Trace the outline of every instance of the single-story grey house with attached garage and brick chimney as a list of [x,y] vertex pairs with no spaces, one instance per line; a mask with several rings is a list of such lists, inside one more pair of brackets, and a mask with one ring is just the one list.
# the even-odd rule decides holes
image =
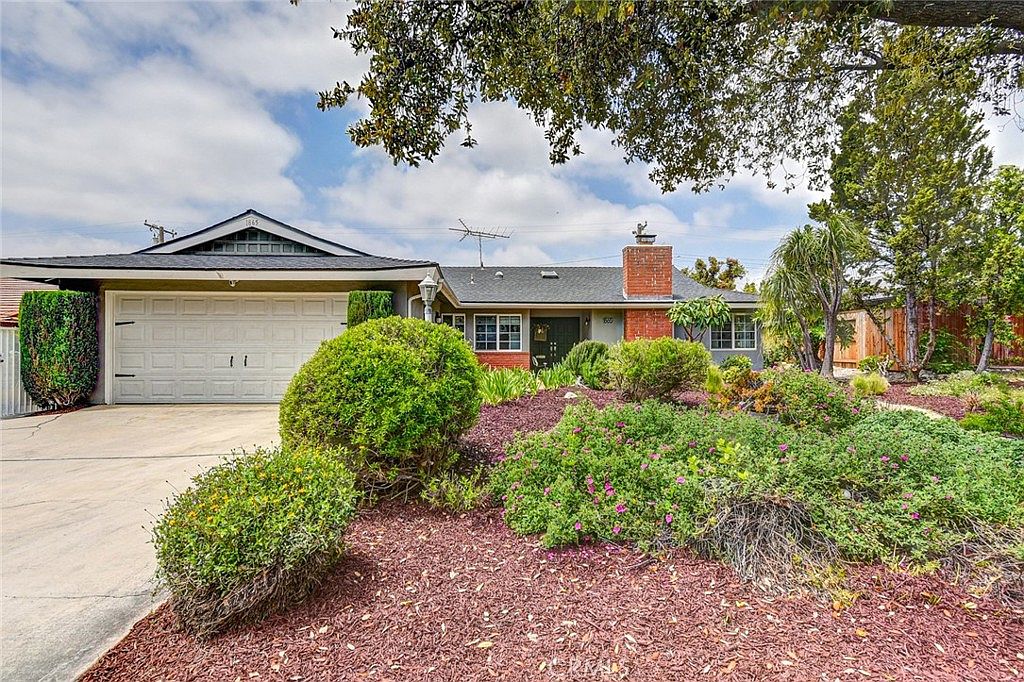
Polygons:
[[248,210],[135,253],[7,258],[4,276],[99,295],[95,402],[280,399],[296,370],[344,331],[348,293],[387,290],[423,315],[421,281],[439,284],[437,323],[460,329],[493,367],[550,365],[583,339],[676,335],[677,300],[723,296],[731,324],[713,355],[761,365],[757,297],[703,287],[673,266],[672,247],[636,244],[622,267],[447,267],[375,256]]

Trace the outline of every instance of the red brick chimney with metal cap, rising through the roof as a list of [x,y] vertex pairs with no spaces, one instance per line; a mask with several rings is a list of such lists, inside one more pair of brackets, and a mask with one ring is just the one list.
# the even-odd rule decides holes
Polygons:
[[[637,225],[637,243],[623,249],[623,293],[627,299],[672,300],[672,247],[655,245],[654,235],[644,232],[645,224]],[[672,322],[665,308],[626,309],[624,337],[656,339],[673,336]]]

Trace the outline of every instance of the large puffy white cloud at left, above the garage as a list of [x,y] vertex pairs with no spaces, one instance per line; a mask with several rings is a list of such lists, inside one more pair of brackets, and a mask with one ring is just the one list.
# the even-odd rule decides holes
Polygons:
[[[245,92],[153,58],[88,88],[3,83],[8,211],[99,222],[294,207],[299,141]],[[230,207],[230,208],[228,208]]]

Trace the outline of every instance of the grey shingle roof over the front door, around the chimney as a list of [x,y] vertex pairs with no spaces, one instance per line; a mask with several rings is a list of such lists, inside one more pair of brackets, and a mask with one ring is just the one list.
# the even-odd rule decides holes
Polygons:
[[[557,276],[544,276],[555,272]],[[501,276],[499,276],[501,273]],[[444,285],[461,304],[626,304],[671,302],[721,296],[729,303],[757,303],[755,294],[705,287],[673,270],[672,299],[626,297],[622,267],[451,267],[441,266]]]

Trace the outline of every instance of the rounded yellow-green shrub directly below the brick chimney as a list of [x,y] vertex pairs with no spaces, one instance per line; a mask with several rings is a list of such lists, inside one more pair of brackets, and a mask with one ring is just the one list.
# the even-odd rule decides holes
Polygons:
[[711,353],[703,344],[669,337],[625,341],[612,346],[608,356],[611,385],[628,400],[701,387],[709,367]]

